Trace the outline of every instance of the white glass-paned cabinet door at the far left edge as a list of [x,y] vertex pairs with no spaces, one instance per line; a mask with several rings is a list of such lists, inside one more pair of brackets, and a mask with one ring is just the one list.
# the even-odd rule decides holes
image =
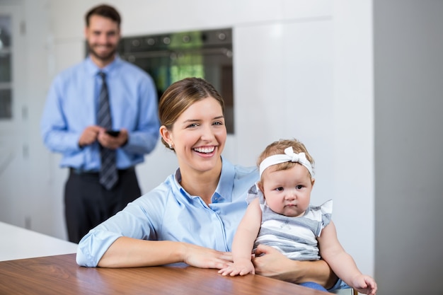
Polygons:
[[28,108],[22,6],[0,5],[0,221],[29,226]]

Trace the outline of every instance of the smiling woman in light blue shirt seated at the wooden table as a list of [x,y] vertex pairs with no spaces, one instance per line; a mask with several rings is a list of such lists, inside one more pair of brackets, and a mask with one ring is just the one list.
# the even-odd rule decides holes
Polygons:
[[[179,168],[158,187],[92,229],[79,243],[77,263],[89,267],[141,267],[185,262],[222,269],[246,211],[255,168],[222,157],[226,142],[224,101],[203,79],[173,83],[159,102],[163,144]],[[255,273],[289,282],[331,287],[337,277],[323,262],[292,261],[259,247]]]

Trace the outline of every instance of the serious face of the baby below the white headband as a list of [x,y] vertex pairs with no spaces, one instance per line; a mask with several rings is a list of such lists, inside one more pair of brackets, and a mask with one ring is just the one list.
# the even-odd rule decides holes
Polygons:
[[287,170],[268,168],[263,172],[263,195],[273,212],[301,216],[309,207],[313,179],[309,171],[297,164]]

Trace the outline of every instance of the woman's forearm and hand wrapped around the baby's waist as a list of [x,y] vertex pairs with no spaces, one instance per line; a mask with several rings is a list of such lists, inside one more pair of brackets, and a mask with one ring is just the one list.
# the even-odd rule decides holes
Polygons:
[[[265,254],[265,255],[263,255]],[[266,245],[258,245],[253,258],[255,273],[286,282],[316,282],[326,289],[333,287],[338,277],[323,260],[290,260],[279,250]]]

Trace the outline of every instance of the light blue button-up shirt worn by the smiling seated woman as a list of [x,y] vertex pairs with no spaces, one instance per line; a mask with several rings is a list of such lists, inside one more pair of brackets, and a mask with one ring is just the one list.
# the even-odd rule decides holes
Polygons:
[[222,160],[222,174],[212,204],[207,206],[200,197],[185,192],[178,169],[154,190],[89,231],[79,243],[77,263],[95,267],[121,236],[180,241],[230,251],[234,233],[246,211],[246,193],[258,180],[258,170]]

